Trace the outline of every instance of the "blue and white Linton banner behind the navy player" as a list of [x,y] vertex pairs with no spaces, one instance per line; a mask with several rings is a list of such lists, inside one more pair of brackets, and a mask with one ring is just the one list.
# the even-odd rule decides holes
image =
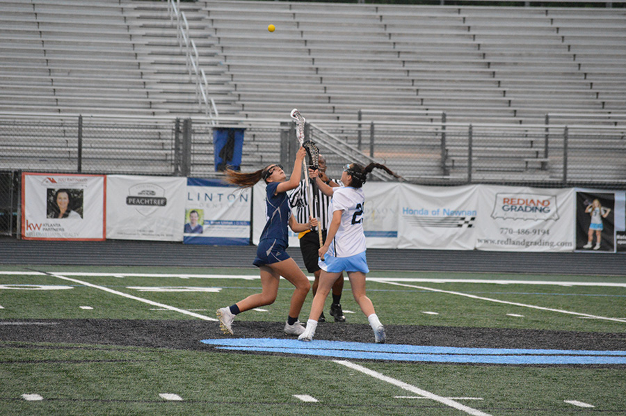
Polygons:
[[252,192],[219,180],[187,179],[185,244],[250,243]]

